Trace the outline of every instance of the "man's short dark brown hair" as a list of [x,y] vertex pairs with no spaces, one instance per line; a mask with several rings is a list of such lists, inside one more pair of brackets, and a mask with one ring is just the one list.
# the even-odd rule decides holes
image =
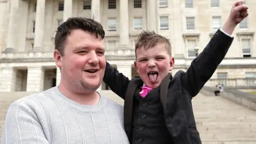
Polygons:
[[69,18],[67,21],[63,22],[57,29],[55,35],[54,43],[55,50],[58,50],[63,56],[65,51],[65,43],[68,35],[70,35],[71,30],[81,29],[91,33],[97,38],[103,39],[105,37],[105,31],[103,30],[102,25],[93,20],[87,18]]

